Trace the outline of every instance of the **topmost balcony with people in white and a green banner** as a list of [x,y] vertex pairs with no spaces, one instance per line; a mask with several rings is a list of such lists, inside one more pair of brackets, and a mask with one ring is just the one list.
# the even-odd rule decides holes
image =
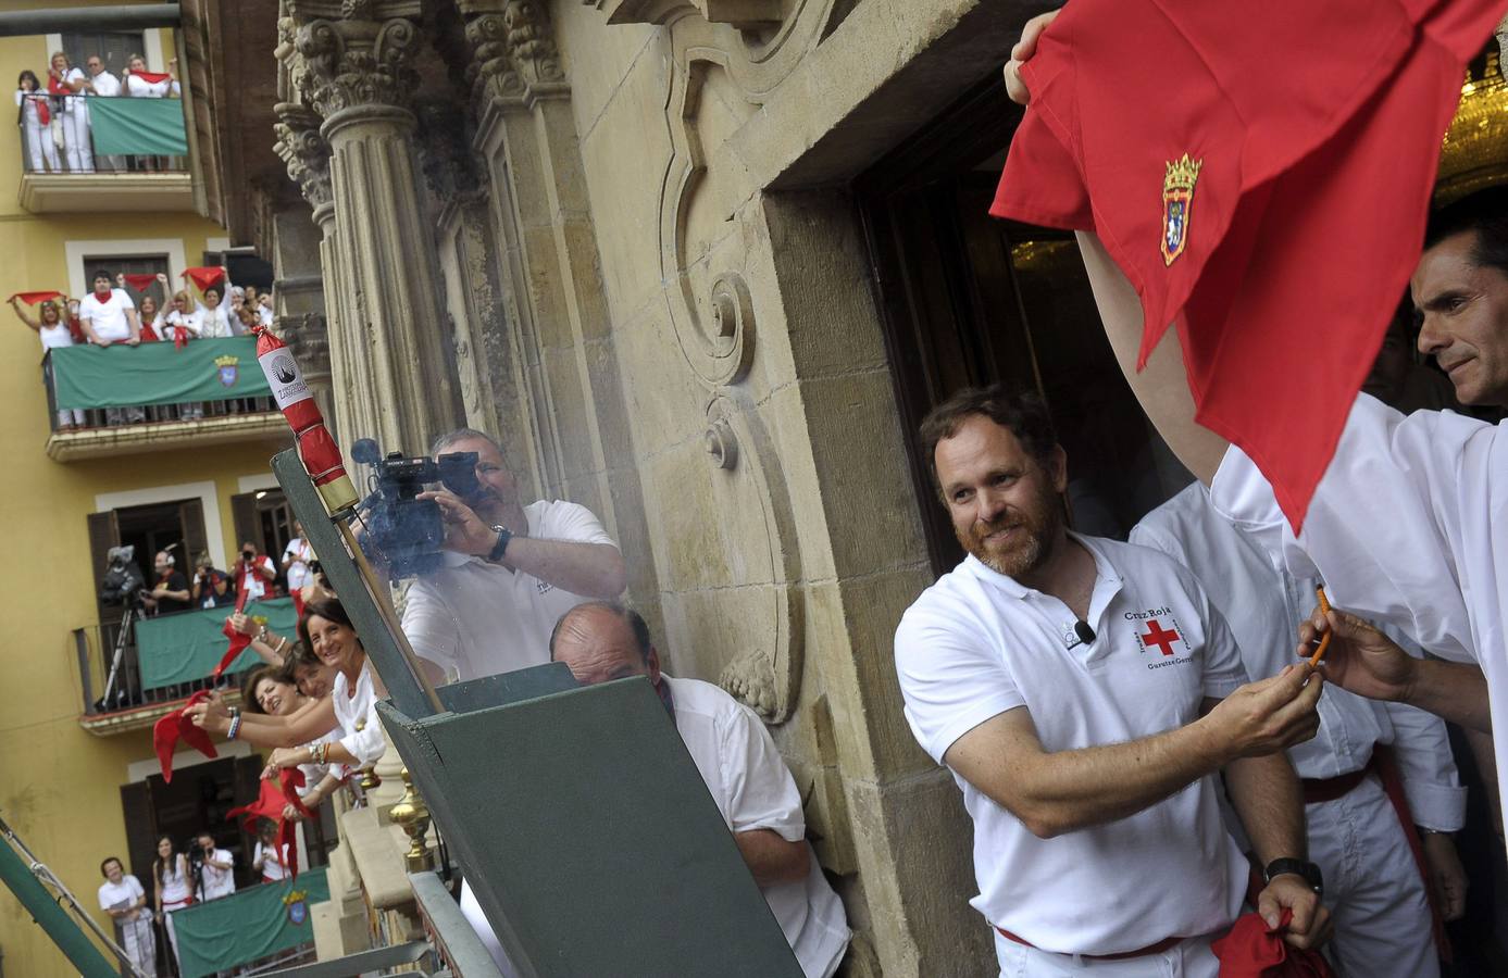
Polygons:
[[192,211],[188,134],[178,62],[119,74],[100,54],[80,68],[57,51],[45,77],[17,78],[21,206],[33,214]]

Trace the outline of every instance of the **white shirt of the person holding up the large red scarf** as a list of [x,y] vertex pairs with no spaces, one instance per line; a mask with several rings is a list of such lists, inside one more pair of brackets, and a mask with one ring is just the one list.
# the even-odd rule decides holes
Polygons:
[[[1508,422],[1404,416],[1371,395],[1351,407],[1294,538],[1273,487],[1231,448],[1215,509],[1282,559],[1323,577],[1330,603],[1401,628],[1431,654],[1481,665],[1493,726],[1508,731]],[[1497,781],[1508,784],[1508,743]]]

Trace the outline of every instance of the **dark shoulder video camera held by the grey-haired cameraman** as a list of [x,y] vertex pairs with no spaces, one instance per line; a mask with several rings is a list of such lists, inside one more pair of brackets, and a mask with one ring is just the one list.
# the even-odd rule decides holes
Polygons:
[[372,493],[362,502],[365,539],[392,576],[413,577],[439,570],[445,542],[440,506],[418,496],[439,482],[461,499],[474,497],[481,488],[477,452],[451,452],[439,458],[404,458],[401,452],[389,452],[383,457],[375,442],[362,439],[351,446],[351,458],[372,466]]

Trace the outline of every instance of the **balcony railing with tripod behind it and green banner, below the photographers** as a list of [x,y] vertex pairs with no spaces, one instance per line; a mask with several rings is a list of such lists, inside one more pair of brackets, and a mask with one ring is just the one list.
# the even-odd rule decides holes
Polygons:
[[[95,734],[149,725],[185,696],[214,689],[210,678],[229,640],[220,631],[231,607],[193,609],[175,615],[124,615],[98,625],[74,628],[83,716]],[[247,615],[265,616],[268,628],[293,634],[293,598],[253,601]],[[124,634],[124,637],[122,637]],[[225,678],[235,680],[261,660],[247,649],[231,663]]]

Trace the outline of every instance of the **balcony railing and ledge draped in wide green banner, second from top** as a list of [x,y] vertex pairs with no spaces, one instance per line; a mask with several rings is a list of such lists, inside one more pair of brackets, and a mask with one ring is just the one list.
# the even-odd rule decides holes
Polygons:
[[75,345],[42,359],[57,461],[287,437],[250,336]]

